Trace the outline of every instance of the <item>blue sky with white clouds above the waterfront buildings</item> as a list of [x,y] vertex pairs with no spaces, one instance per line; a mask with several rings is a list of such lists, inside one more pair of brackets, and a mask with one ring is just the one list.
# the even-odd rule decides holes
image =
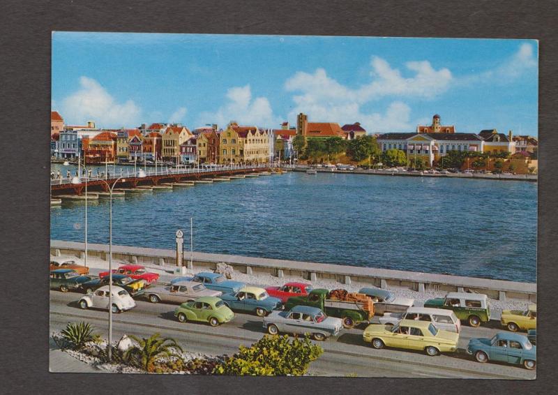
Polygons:
[[438,113],[460,132],[538,135],[536,40],[52,34],[52,109],[66,124],[278,128],[361,122],[414,131]]

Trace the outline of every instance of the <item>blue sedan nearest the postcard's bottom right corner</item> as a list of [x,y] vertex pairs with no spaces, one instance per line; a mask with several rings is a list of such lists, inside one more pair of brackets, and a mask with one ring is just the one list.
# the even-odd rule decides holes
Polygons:
[[529,370],[536,367],[536,345],[532,345],[527,336],[510,332],[498,332],[492,338],[472,338],[467,354],[481,363],[506,362],[523,365]]

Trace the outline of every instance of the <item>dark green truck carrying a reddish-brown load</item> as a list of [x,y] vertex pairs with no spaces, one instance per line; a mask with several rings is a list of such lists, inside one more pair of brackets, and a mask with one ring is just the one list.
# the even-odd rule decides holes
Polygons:
[[326,315],[341,318],[343,327],[352,328],[359,322],[370,322],[374,316],[374,302],[364,294],[349,293],[346,290],[329,291],[323,288],[312,290],[308,295],[289,297],[285,310],[294,306],[320,308]]

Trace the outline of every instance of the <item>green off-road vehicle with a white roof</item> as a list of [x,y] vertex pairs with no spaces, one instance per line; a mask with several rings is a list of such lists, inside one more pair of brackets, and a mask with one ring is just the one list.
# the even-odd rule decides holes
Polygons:
[[488,297],[483,294],[449,292],[444,298],[428,299],[424,306],[452,310],[460,320],[467,320],[472,327],[490,321]]

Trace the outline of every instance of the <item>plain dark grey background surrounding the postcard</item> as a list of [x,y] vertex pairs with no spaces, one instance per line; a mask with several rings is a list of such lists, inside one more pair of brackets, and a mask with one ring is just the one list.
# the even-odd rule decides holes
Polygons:
[[[557,3],[553,1],[0,1],[2,394],[555,393]],[[48,373],[51,31],[540,40],[538,379],[220,378]],[[429,59],[434,64],[435,59]],[[490,93],[488,93],[490,94]],[[513,213],[501,213],[513,215]],[[520,234],[518,234],[518,242]],[[363,349],[363,352],[366,352]],[[554,390],[552,391],[552,388]]]

